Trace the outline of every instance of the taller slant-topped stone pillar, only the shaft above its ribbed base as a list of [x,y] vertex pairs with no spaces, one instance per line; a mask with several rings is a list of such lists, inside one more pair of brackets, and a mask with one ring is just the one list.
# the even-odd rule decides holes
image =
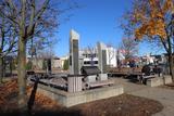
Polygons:
[[70,31],[70,74],[78,75],[78,40],[79,35],[75,30]]

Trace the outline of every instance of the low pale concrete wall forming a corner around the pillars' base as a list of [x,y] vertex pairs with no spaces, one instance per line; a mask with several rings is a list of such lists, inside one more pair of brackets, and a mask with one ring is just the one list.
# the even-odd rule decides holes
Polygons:
[[70,107],[80,103],[91,102],[100,99],[107,99],[123,93],[123,86],[103,87],[82,92],[65,92],[48,86],[38,85],[38,91],[58,101],[59,104]]

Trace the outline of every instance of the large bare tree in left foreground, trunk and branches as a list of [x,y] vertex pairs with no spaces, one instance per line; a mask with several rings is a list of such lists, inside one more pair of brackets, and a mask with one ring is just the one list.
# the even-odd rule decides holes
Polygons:
[[50,0],[0,1],[0,16],[13,26],[17,35],[18,108],[22,113],[27,111],[26,44],[32,38],[48,35],[58,26],[55,11]]

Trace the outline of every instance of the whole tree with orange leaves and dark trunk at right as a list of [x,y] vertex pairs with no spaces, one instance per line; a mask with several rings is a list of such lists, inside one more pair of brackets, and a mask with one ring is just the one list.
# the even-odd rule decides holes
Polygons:
[[136,40],[147,38],[162,44],[174,80],[174,0],[134,0],[124,18],[126,34],[134,35]]

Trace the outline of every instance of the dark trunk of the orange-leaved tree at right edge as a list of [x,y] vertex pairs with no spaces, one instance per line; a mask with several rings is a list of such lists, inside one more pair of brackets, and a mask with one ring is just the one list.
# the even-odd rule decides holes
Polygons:
[[174,63],[173,63],[173,56],[172,53],[169,54],[169,65],[170,65],[170,75],[172,76],[172,79],[174,81]]

